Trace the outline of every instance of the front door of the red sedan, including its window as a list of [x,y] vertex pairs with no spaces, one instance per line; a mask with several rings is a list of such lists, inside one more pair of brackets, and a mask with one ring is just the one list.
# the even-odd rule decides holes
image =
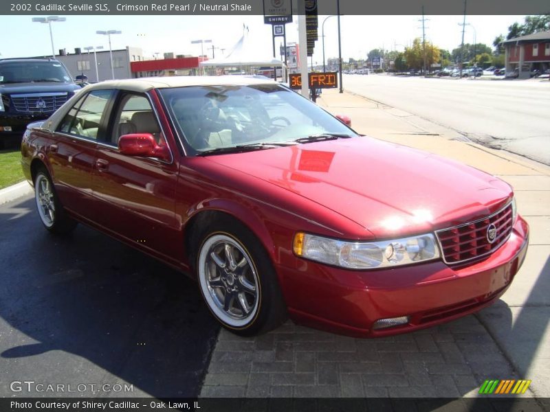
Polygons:
[[97,221],[148,253],[166,260],[181,259],[174,200],[177,165],[174,160],[122,155],[118,139],[130,133],[151,133],[157,144],[166,145],[148,95],[120,91],[108,139],[98,146],[96,154]]

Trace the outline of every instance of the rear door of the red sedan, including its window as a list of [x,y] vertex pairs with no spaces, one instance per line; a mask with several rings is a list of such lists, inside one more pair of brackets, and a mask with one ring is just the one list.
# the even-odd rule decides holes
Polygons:
[[54,132],[56,142],[48,148],[56,191],[63,205],[88,219],[94,218],[94,174],[98,139],[107,128],[113,90],[83,95]]

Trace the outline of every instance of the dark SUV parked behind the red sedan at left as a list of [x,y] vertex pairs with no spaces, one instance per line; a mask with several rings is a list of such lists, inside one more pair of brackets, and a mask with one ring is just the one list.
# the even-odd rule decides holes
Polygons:
[[0,147],[8,135],[47,119],[80,87],[65,66],[53,58],[0,60]]

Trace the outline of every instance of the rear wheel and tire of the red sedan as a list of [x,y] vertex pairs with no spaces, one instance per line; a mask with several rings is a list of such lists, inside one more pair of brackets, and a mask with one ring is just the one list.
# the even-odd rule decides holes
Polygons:
[[50,175],[41,168],[34,178],[34,200],[39,217],[48,231],[63,235],[76,227],[76,221],[67,216],[57,197]]

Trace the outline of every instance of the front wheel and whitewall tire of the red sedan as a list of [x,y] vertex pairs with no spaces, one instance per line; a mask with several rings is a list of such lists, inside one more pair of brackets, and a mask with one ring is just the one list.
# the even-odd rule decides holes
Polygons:
[[[194,233],[195,275],[206,306],[241,336],[268,332],[286,319],[278,279],[254,234],[232,218],[217,218]],[[191,262],[193,258],[191,259]]]

